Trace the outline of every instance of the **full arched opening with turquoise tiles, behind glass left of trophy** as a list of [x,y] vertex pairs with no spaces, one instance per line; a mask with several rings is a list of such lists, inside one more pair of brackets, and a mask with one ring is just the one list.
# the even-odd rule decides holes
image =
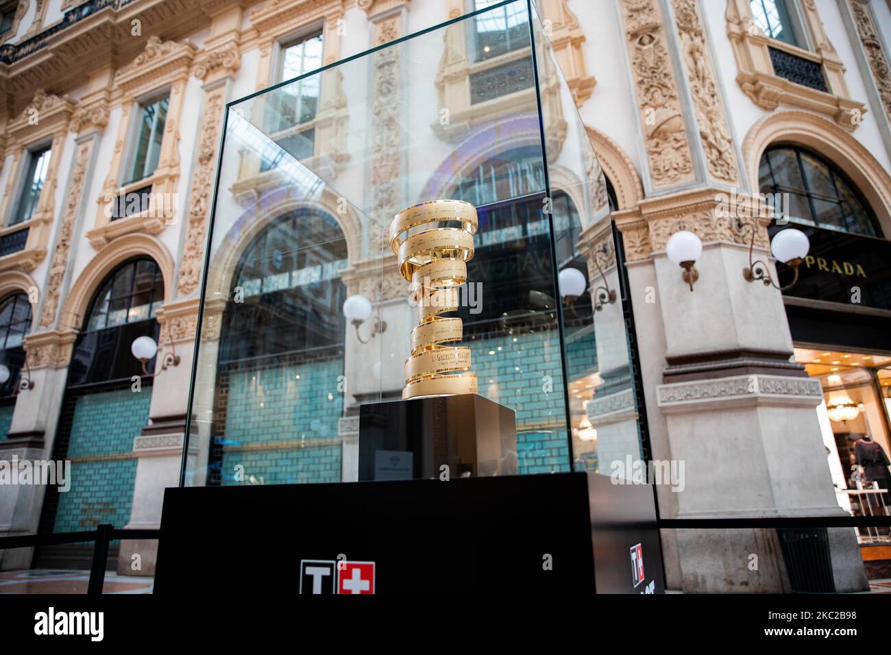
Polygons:
[[241,253],[220,327],[208,485],[240,484],[239,465],[260,484],[340,481],[346,267],[347,240],[319,209],[276,217]]

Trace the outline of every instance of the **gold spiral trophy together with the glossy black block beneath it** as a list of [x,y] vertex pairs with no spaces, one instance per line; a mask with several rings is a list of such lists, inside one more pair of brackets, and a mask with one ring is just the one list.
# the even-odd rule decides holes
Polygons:
[[[459,307],[478,225],[470,202],[427,201],[403,209],[389,226],[418,323],[402,398],[359,406],[360,480],[517,472],[513,410],[478,395],[470,348],[455,345],[464,336],[462,320],[447,316]],[[387,384],[381,381],[382,391]]]

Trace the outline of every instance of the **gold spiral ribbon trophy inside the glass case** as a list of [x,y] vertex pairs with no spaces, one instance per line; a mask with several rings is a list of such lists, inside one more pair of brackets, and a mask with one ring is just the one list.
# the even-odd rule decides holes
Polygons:
[[412,355],[405,360],[403,399],[477,393],[470,348],[444,346],[462,340],[462,320],[440,314],[458,308],[458,287],[467,282],[473,257],[477,208],[464,201],[428,201],[403,209],[390,224],[390,248],[399,273],[412,283],[418,306]]

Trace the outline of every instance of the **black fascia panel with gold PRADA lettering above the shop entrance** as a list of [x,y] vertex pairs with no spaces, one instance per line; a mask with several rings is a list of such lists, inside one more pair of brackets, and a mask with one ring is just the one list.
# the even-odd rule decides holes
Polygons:
[[[787,296],[845,305],[891,309],[891,243],[819,227],[795,225],[807,234],[811,250],[798,267],[797,284]],[[781,228],[770,228],[771,237]],[[780,284],[792,282],[789,266],[777,265]]]

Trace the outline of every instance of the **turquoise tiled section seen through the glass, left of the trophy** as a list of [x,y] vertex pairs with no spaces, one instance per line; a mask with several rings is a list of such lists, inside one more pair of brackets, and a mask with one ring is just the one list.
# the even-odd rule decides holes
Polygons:
[[230,373],[221,484],[339,482],[342,374],[339,358]]

